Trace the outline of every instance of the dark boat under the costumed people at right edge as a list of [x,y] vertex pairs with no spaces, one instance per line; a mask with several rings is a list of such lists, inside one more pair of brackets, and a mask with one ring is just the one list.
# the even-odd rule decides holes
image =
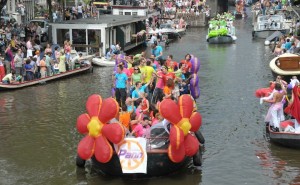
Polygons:
[[[292,121],[292,120],[285,120]],[[274,132],[269,124],[266,125],[267,138],[275,144],[288,148],[300,149],[300,134],[294,132]]]

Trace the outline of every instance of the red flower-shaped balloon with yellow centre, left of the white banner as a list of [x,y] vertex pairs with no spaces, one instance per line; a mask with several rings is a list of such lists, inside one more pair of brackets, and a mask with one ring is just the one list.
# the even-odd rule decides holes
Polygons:
[[119,113],[119,105],[113,98],[102,100],[100,95],[91,95],[86,102],[87,114],[77,118],[77,130],[87,134],[78,144],[78,155],[87,160],[95,155],[99,162],[110,161],[113,155],[111,144],[118,144],[125,137],[125,130],[119,123],[108,121]]

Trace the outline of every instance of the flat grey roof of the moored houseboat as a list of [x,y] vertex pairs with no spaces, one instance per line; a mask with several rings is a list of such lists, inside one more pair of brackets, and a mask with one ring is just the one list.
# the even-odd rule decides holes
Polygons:
[[99,19],[88,18],[88,19],[74,19],[63,22],[51,23],[51,25],[57,24],[107,24],[110,26],[118,26],[128,24],[132,22],[145,20],[147,17],[144,16],[130,16],[130,15],[100,15]]

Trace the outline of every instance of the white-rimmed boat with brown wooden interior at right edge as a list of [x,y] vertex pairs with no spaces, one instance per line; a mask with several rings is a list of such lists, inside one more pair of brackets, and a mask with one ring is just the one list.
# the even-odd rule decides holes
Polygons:
[[269,67],[274,77],[281,75],[289,80],[292,76],[300,77],[300,56],[291,53],[284,53],[273,58]]

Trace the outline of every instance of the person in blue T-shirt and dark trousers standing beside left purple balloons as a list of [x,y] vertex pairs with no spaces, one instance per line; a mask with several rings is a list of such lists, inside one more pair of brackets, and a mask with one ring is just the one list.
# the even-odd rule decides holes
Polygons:
[[117,73],[113,76],[113,86],[116,89],[116,100],[120,107],[125,105],[125,100],[127,97],[127,80],[127,75],[123,73],[123,66],[119,65],[117,68]]

